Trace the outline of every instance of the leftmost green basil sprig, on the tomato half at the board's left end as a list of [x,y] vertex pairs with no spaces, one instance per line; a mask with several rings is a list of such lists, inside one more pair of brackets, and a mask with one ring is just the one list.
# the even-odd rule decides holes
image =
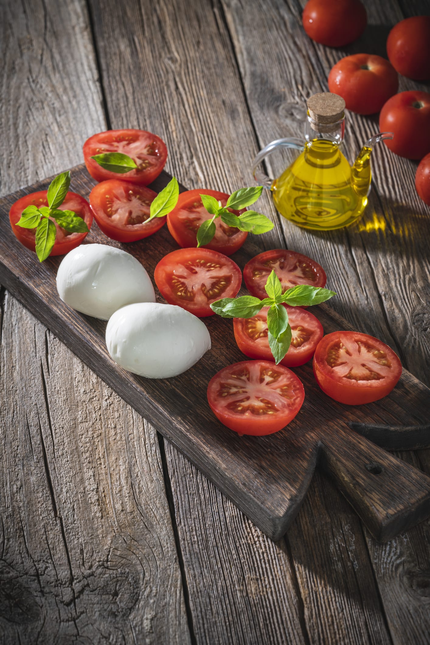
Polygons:
[[[22,228],[35,228],[35,246],[39,262],[43,262],[55,244],[57,228],[52,219],[69,233],[88,233],[90,230],[84,219],[72,210],[59,210],[63,204],[70,186],[70,172],[62,172],[55,177],[48,188],[49,206],[34,206],[31,204],[24,208],[17,226]],[[51,219],[52,218],[52,219]]]

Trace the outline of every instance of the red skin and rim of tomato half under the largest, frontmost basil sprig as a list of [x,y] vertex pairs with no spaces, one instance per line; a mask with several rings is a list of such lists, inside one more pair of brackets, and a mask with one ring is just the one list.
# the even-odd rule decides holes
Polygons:
[[[306,309],[303,309],[302,307],[289,307],[288,305],[284,305],[286,310],[288,311],[288,315],[290,317],[290,324],[291,324],[291,317],[294,317],[294,313],[300,313],[305,321],[311,321],[311,325],[315,328],[313,330],[313,344],[309,344],[308,348],[295,348],[294,345],[291,343],[289,346],[288,352],[280,361],[281,365],[285,365],[286,367],[298,367],[300,365],[304,365],[306,362],[310,361],[311,358],[313,357],[315,353],[315,348],[322,339],[322,336],[324,335],[324,331],[322,329],[322,324],[318,319],[310,312],[308,312]],[[267,315],[267,314],[266,314]],[[264,359],[266,361],[275,361],[273,358],[273,354],[270,351],[269,347],[269,342],[264,342],[264,346],[262,342],[253,342],[248,335],[244,332],[244,319],[243,318],[233,318],[233,331],[235,333],[235,339],[237,342],[237,346],[240,349],[240,352],[243,352],[246,356],[248,356],[250,359]],[[266,339],[265,339],[266,341]],[[301,351],[300,351],[301,350]]]

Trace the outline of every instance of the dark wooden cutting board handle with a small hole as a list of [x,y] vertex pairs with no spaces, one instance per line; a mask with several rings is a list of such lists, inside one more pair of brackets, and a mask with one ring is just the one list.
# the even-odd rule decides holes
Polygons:
[[430,515],[430,477],[349,428],[323,440],[321,465],[380,542]]

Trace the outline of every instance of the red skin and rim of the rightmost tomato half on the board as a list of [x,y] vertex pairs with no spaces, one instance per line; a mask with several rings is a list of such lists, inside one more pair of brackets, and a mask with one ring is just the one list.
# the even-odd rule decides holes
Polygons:
[[[384,399],[395,388],[398,379],[402,375],[402,364],[391,348],[384,342],[379,341],[373,336],[364,333],[357,333],[356,336],[366,337],[373,341],[377,346],[384,347],[389,354],[391,365],[393,366],[393,377],[387,380],[386,384],[379,385],[378,381],[367,381],[367,385],[359,385],[358,381],[349,379],[336,379],[331,375],[331,368],[327,365],[324,350],[331,339],[336,339],[339,332],[332,332],[324,336],[318,343],[315,355],[313,357],[313,373],[322,392],[335,399],[339,403],[346,405],[362,405]],[[351,333],[351,332],[341,332]],[[359,381],[363,383],[363,381]]]

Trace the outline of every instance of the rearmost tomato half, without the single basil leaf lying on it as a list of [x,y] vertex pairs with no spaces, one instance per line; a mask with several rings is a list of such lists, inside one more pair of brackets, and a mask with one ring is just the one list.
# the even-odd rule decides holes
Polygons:
[[[166,144],[160,137],[146,130],[107,130],[98,132],[87,139],[83,147],[86,169],[95,181],[126,179],[133,184],[148,186],[164,168],[167,159]],[[137,164],[135,170],[124,174],[105,170],[91,159],[103,152],[122,152],[132,157]]]

